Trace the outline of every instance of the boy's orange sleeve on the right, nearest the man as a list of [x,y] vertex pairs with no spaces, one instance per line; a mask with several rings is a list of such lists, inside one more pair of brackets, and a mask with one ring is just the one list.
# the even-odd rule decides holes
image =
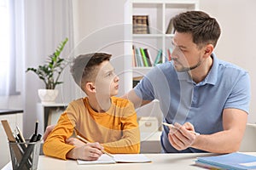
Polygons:
[[140,131],[137,124],[137,114],[131,102],[129,102],[124,109],[124,116],[121,118],[121,123],[123,131],[121,139],[115,142],[102,144],[104,146],[104,150],[107,150],[110,153],[139,153]]

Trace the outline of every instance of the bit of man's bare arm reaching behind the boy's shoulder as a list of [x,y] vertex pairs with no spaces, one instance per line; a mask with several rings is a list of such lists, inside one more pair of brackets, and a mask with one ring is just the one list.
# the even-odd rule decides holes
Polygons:
[[143,99],[139,98],[137,96],[137,94],[135,93],[134,89],[131,89],[130,92],[121,96],[121,98],[129,99],[131,101],[131,103],[133,103],[135,109],[151,102],[150,100],[143,100]]

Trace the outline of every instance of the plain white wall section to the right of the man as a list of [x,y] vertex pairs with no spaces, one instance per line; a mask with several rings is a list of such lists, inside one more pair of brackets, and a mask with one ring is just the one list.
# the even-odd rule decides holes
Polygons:
[[239,65],[249,72],[252,99],[248,122],[256,122],[256,1],[201,0],[200,8],[215,17],[222,28],[215,50],[218,58]]

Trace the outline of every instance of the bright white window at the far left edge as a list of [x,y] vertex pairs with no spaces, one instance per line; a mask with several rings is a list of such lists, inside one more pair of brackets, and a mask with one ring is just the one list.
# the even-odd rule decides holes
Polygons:
[[16,95],[15,2],[0,0],[0,95]]

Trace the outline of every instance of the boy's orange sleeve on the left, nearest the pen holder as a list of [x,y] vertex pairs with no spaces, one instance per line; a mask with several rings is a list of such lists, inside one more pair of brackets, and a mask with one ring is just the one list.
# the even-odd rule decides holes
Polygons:
[[70,109],[67,108],[67,111],[60,116],[57,125],[44,141],[43,150],[45,156],[67,160],[67,152],[75,147],[71,144],[66,144],[66,139],[73,134],[75,124],[73,120],[75,120],[75,117]]

